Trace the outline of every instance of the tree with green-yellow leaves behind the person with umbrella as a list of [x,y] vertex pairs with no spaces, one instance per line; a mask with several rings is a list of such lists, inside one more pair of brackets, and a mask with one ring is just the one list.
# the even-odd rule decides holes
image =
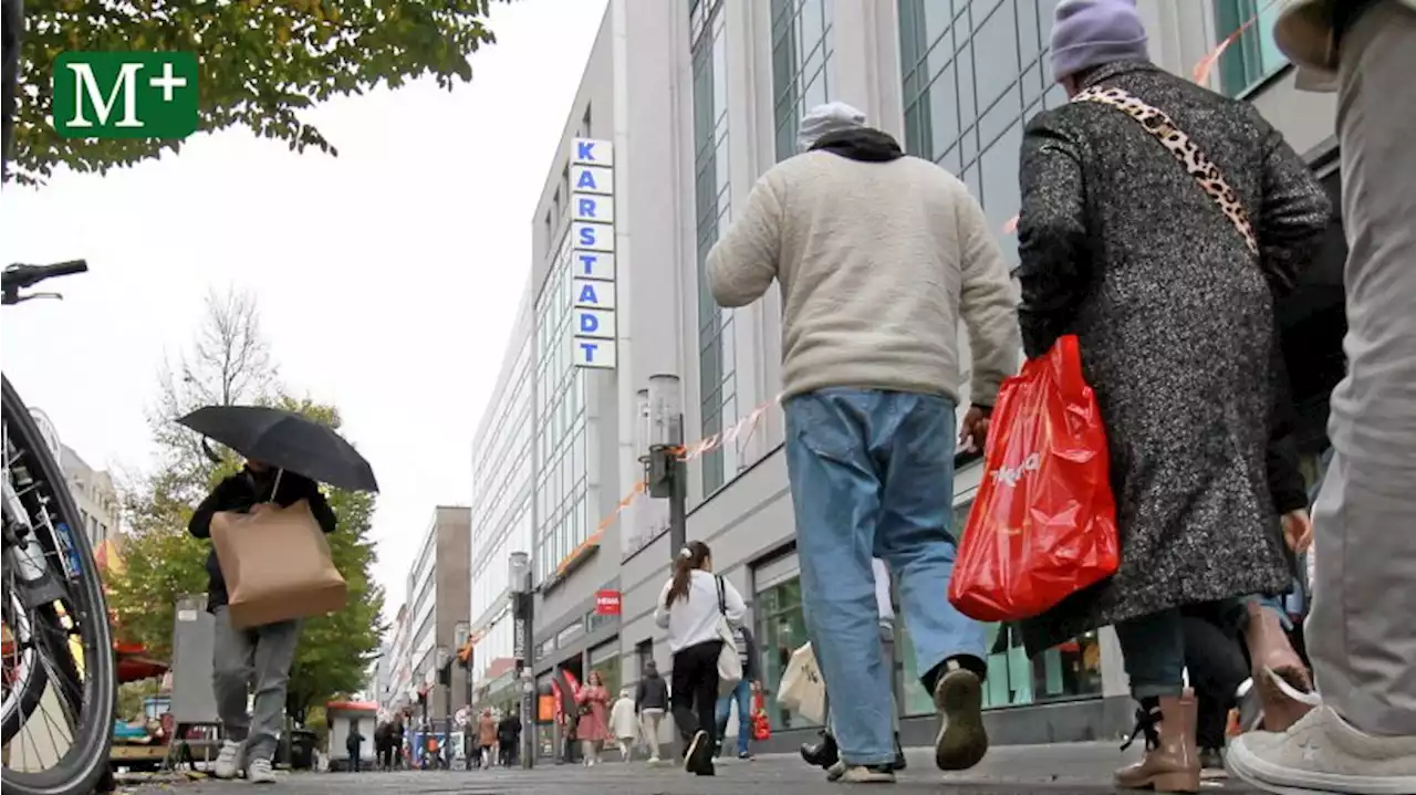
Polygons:
[[[174,604],[183,594],[207,590],[208,542],[191,538],[193,509],[221,478],[235,472],[239,458],[202,446],[173,420],[204,405],[259,403],[299,412],[334,429],[338,410],[286,395],[276,379],[269,344],[255,301],[241,293],[214,293],[191,351],[163,369],[152,412],[156,467],[127,489],[130,529],[123,542],[123,570],[113,576],[109,607],[125,639],[147,646],[153,656],[171,654]],[[336,693],[358,690],[370,655],[378,648],[384,594],[371,580],[375,562],[370,540],[374,498],[326,488],[338,529],[329,536],[336,567],[350,588],[348,605],[304,624],[290,672],[290,714]]]

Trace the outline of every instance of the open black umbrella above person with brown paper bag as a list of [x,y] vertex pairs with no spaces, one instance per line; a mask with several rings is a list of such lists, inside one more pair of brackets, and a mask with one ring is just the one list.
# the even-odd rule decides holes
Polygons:
[[207,406],[177,420],[246,458],[337,488],[378,491],[374,470],[334,429],[283,409]]

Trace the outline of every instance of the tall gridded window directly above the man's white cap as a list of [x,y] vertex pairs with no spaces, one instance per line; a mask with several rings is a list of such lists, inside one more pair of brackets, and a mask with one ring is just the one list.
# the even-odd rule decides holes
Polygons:
[[[772,0],[772,91],[777,160],[796,154],[801,115],[830,98],[834,0]],[[936,3],[937,4],[937,3]]]

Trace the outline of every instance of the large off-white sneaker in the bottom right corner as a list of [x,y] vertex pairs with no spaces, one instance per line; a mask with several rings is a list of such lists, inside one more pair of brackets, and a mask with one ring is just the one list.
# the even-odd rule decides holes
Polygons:
[[1266,792],[1281,795],[1416,792],[1416,737],[1375,737],[1320,706],[1286,733],[1235,737],[1225,767]]

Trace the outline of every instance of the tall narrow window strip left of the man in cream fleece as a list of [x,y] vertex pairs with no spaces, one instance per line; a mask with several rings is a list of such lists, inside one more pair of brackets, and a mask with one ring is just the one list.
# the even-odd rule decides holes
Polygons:
[[[702,436],[738,422],[738,376],[733,358],[733,313],[708,291],[708,252],[728,225],[728,42],[724,3],[695,0],[692,8],[694,66],[694,205],[698,229],[698,399]],[[726,472],[738,471],[736,447],[718,447],[698,460],[704,497],[718,491]]]

